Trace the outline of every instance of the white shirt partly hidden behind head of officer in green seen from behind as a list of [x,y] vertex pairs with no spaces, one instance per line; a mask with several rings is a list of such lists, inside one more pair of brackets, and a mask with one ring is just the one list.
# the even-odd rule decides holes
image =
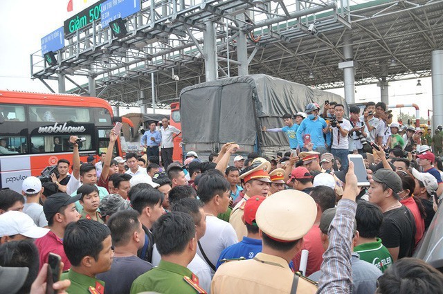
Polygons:
[[[152,248],[152,265],[159,266],[160,263],[160,253],[157,250],[156,244]],[[186,266],[194,275],[199,277],[199,286],[204,288],[204,290],[209,294],[210,293],[210,281],[213,279],[213,275],[210,273],[210,267],[206,262],[196,254],[194,259]]]

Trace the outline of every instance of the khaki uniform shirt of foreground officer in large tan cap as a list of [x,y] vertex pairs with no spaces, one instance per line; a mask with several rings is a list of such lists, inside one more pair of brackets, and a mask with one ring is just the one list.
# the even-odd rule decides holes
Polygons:
[[[210,284],[210,293],[289,294],[293,275],[286,260],[258,253],[254,259],[222,264]],[[316,291],[314,284],[298,278],[296,293],[314,294]]]

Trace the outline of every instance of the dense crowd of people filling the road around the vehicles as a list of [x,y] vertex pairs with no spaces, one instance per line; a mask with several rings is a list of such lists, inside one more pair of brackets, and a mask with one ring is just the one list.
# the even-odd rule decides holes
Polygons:
[[72,164],[0,191],[0,292],[45,293],[55,253],[60,293],[443,293],[443,274],[411,258],[443,193],[441,129],[404,128],[383,102],[345,112],[311,103],[263,127],[288,136],[275,156],[226,143],[172,162],[179,130],[163,120],[143,156],[113,158],[113,129],[82,163],[71,136]]

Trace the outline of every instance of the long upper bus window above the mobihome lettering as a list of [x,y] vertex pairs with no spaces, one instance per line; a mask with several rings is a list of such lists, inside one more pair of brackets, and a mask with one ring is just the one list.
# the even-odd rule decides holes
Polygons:
[[89,109],[74,107],[30,106],[31,122],[90,122]]

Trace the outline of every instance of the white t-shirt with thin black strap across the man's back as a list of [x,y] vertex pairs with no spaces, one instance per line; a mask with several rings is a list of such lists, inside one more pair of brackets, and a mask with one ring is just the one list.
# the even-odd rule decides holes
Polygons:
[[[200,239],[200,244],[214,267],[217,265],[221,251],[236,243],[237,234],[235,234],[235,230],[230,223],[222,221],[212,215],[206,217],[206,233],[204,237]],[[205,260],[204,256],[201,254],[200,248],[197,248],[197,254],[200,255],[201,259]],[[210,272],[212,276],[215,273],[212,268],[210,269]]]

